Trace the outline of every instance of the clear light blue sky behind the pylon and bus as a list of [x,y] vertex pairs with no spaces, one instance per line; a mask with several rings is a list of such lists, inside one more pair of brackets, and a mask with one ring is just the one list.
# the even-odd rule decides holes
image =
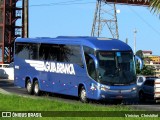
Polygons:
[[[29,0],[29,37],[90,36],[96,0]],[[160,56],[160,18],[148,7],[116,5],[119,39]],[[105,27],[104,30],[108,28]],[[103,37],[112,38],[109,31]]]

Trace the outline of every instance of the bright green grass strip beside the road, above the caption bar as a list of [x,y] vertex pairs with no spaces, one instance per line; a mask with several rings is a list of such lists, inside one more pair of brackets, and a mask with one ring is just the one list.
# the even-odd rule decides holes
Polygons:
[[16,95],[0,94],[0,110],[11,111],[128,111],[129,107],[112,105],[109,107],[81,102],[65,102],[46,98],[26,98]]

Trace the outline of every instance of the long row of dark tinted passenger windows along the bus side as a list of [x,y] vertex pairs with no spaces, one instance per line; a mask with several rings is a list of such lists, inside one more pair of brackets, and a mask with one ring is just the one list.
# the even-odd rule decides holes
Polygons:
[[24,59],[70,62],[82,65],[80,46],[16,43],[15,53]]

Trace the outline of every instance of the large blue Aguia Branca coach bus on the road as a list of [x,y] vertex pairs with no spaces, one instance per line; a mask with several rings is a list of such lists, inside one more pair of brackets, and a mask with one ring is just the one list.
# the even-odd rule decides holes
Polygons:
[[14,83],[43,92],[92,100],[137,97],[133,51],[111,38],[19,38],[14,43]]

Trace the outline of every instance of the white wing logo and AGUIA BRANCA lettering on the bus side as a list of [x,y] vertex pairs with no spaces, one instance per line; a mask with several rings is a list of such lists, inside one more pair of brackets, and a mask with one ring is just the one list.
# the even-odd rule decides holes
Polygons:
[[30,64],[31,67],[34,67],[37,71],[75,75],[73,64],[33,60],[25,60],[25,62]]

